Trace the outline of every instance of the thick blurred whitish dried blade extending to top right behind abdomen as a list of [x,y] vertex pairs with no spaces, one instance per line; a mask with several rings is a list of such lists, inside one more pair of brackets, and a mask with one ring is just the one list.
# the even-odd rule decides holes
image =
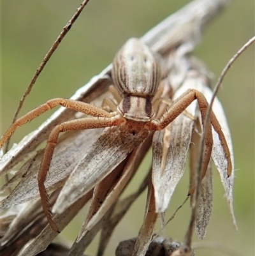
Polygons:
[[201,30],[229,3],[230,0],[192,1],[147,32],[142,41],[161,55],[191,39],[198,43]]

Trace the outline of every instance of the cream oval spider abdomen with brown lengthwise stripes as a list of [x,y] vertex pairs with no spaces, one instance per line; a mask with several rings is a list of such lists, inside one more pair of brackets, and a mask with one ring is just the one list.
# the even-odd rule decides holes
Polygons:
[[159,63],[147,45],[131,38],[113,60],[112,77],[122,96],[151,99],[159,86]]

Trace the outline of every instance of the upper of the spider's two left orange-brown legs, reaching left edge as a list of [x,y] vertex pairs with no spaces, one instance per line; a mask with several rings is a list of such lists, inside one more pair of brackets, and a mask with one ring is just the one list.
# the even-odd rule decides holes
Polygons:
[[99,107],[96,107],[94,105],[90,105],[88,103],[84,102],[78,102],[76,100],[65,100],[62,98],[55,98],[52,100],[48,100],[48,102],[44,103],[43,105],[40,105],[34,110],[31,110],[24,116],[17,119],[15,123],[13,123],[10,128],[7,130],[6,133],[4,133],[3,137],[0,140],[0,149],[3,147],[4,143],[8,138],[11,137],[13,132],[18,128],[18,126],[22,126],[25,123],[30,122],[34,118],[40,116],[47,110],[53,109],[57,105],[62,105],[62,107],[66,107],[68,109],[76,110],[79,112],[82,112],[84,114],[87,114],[89,116],[98,116],[98,117],[112,117],[113,114],[110,114],[106,112],[103,109],[100,109]]

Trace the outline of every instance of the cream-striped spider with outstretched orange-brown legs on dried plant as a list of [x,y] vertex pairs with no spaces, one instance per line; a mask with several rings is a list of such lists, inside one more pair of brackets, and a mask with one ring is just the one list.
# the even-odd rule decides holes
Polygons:
[[[59,232],[59,230],[54,220],[52,220],[52,213],[50,211],[50,204],[48,203],[48,195],[44,183],[59,133],[73,130],[119,126],[120,131],[122,132],[122,141],[125,140],[126,132],[133,133],[134,135],[138,134],[138,138],[140,138],[139,141],[134,141],[135,146],[138,146],[138,144],[147,137],[150,131],[163,130],[176,117],[184,112],[194,100],[198,100],[202,125],[204,126],[208,103],[205,96],[195,89],[189,89],[186,93],[177,98],[159,119],[155,117],[155,109],[157,106],[156,100],[159,98],[157,92],[159,91],[159,82],[161,78],[160,66],[156,56],[154,56],[149,47],[144,45],[137,38],[129,39],[116,54],[113,60],[112,78],[113,84],[117,89],[110,87],[110,91],[118,105],[112,100],[105,100],[105,103],[110,107],[112,112],[107,112],[100,107],[84,102],[54,98],[17,119],[0,140],[1,148],[18,126],[22,126],[47,110],[53,109],[57,105],[62,105],[62,107],[91,116],[66,121],[55,126],[50,132],[47,146],[45,147],[43,158],[41,160],[38,174],[41,204],[43,206],[43,211],[47,216],[48,223],[50,223],[52,229],[57,232]],[[230,176],[232,168],[230,150],[214,112],[210,114],[210,123],[221,140],[225,157],[228,160],[227,173],[228,176]],[[205,131],[207,132],[205,140],[206,149],[201,178],[205,176],[212,153],[212,126],[209,125],[208,130]]]

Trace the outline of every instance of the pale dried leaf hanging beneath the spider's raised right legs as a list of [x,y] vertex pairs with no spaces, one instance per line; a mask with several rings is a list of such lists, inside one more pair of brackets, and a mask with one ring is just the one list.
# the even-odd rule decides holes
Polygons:
[[[175,98],[187,91],[191,82],[194,81],[186,79],[183,86],[175,93]],[[187,112],[191,116],[195,116],[196,102],[189,105]],[[157,213],[166,211],[171,195],[184,174],[193,123],[193,119],[182,114],[164,130],[156,132],[154,135],[152,183],[155,190]]]

